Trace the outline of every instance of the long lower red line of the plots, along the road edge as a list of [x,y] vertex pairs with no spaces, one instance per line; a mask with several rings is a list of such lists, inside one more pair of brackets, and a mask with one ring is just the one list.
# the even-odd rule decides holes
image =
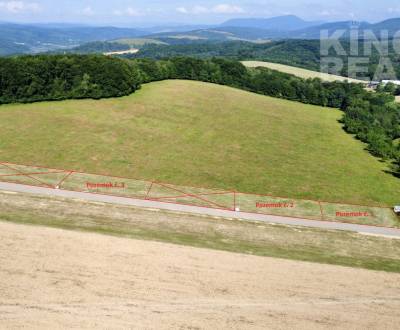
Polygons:
[[[3,181],[3,182],[8,182],[8,183],[17,183],[21,184],[20,182],[13,182],[13,181]],[[54,189],[53,187],[43,187],[43,186],[38,186],[38,185],[32,185],[32,184],[21,184],[29,187],[39,187],[39,188],[47,188],[47,189]],[[127,197],[124,195],[115,195],[115,194],[104,194],[104,193],[96,193],[96,192],[88,192],[85,190],[69,190],[69,189],[64,189],[66,191],[76,191],[76,192],[81,192],[81,193],[86,193],[86,194],[93,194],[93,195],[104,195],[104,196],[110,196],[110,197],[121,197],[121,198],[126,198],[126,199],[139,199],[139,200],[147,200],[147,201],[154,201],[154,202],[160,202],[160,203],[165,203],[165,204],[176,204],[176,205],[184,205],[184,206],[195,206],[195,207],[200,207],[204,209],[210,209],[210,207],[207,206],[201,206],[201,205],[194,205],[194,204],[183,204],[183,203],[172,203],[172,202],[166,202],[166,201],[158,201],[158,200],[153,200],[153,199],[146,199],[144,197],[139,197],[139,196],[131,196]],[[230,209],[226,208],[211,208],[214,210],[222,210],[222,211],[231,211]],[[360,223],[353,223],[353,222],[346,222],[346,221],[332,221],[332,220],[319,220],[319,219],[310,219],[310,218],[301,218],[301,217],[296,217],[292,215],[277,215],[277,214],[268,214],[268,213],[257,213],[257,212],[244,212],[240,211],[238,213],[248,213],[248,214],[257,214],[257,215],[269,215],[269,216],[277,216],[277,217],[285,217],[285,218],[290,218],[290,219],[298,219],[298,220],[306,220],[306,221],[321,221],[321,222],[326,222],[326,223],[342,223],[342,224],[350,224],[350,225],[358,225],[358,226],[365,226],[365,227],[375,227],[375,228],[387,228],[387,229],[395,229],[395,230],[400,230],[398,227],[387,227],[387,226],[379,226],[379,225],[366,225],[366,224],[360,224]]]

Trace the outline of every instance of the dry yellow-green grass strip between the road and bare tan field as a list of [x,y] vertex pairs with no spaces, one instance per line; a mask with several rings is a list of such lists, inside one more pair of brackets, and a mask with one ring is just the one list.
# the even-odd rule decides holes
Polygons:
[[400,240],[0,192],[0,221],[400,273]]

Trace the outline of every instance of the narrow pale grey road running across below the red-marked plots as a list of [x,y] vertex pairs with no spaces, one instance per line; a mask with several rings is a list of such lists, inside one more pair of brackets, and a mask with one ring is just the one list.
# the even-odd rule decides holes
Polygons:
[[276,223],[283,225],[296,225],[296,226],[314,227],[314,228],[331,229],[331,230],[347,230],[363,234],[384,235],[384,236],[400,238],[400,229],[395,229],[395,228],[383,228],[383,227],[355,225],[355,224],[347,224],[339,222],[316,221],[307,219],[288,218],[282,216],[234,212],[234,211],[218,210],[205,207],[171,204],[171,203],[163,203],[157,201],[116,197],[116,196],[76,192],[76,191],[61,190],[61,189],[26,186],[26,185],[5,183],[5,182],[0,182],[0,190],[38,194],[45,196],[64,197],[64,198],[76,198],[93,202],[130,205],[130,206],[138,206],[144,208],[153,208],[153,209],[185,212],[192,214],[202,214],[214,217],[242,219],[249,221],[261,221],[261,222]]

